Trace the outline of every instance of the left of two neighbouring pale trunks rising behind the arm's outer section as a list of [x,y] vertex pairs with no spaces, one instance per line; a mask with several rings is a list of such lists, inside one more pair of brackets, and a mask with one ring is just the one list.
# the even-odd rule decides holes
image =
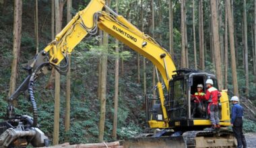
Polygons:
[[[59,0],[55,0],[55,32],[61,32]],[[61,75],[55,70],[55,108],[54,108],[54,126],[53,126],[53,145],[59,144],[59,110],[60,110],[60,88]]]

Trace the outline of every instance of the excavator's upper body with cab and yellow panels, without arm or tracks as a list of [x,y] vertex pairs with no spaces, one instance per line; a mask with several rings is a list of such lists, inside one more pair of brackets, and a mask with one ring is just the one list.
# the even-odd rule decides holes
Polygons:
[[[189,127],[203,129],[211,126],[209,114],[207,113],[207,100],[201,100],[195,104],[192,95],[197,91],[197,85],[203,85],[203,91],[206,93],[207,79],[214,81],[214,87],[218,89],[218,83],[215,75],[203,71],[191,69],[181,69],[175,71],[169,81],[169,93],[164,96],[164,107],[160,97],[156,100],[146,99],[146,118],[150,128],[182,128],[187,130]],[[221,91],[219,98],[219,118],[222,126],[230,125],[229,104],[226,90]],[[164,118],[166,112],[167,120]],[[223,111],[223,112],[222,112]],[[166,124],[166,122],[168,122]]]

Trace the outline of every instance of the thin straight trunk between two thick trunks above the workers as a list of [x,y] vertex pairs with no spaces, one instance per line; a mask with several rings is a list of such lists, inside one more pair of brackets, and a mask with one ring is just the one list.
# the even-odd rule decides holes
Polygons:
[[228,12],[225,5],[225,80],[224,89],[228,89]]

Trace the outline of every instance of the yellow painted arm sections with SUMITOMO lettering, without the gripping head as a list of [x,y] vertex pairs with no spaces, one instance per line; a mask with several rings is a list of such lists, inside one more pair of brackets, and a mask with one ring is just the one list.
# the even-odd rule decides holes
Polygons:
[[[109,11],[109,13],[102,11],[102,9]],[[41,53],[48,53],[49,62],[58,65],[67,54],[71,54],[73,48],[86,35],[97,34],[98,28],[139,52],[156,65],[168,89],[168,80],[172,78],[173,71],[176,70],[168,51],[153,38],[125,20],[123,16],[104,5],[102,0],[92,0],[86,9],[79,11]]]

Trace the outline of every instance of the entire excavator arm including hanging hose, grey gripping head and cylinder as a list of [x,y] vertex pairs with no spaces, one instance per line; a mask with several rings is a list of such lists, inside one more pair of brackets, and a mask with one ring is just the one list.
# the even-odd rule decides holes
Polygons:
[[[45,140],[47,140],[43,133],[40,133],[40,130],[37,128],[38,116],[33,91],[34,81],[36,81],[40,75],[46,74],[47,71],[53,68],[59,71],[59,73],[65,73],[68,65],[68,54],[73,52],[73,48],[75,48],[75,46],[79,44],[85,36],[96,35],[98,33],[98,29],[107,32],[114,38],[117,38],[129,46],[131,49],[143,55],[143,57],[150,60],[155,65],[157,74],[159,71],[162,75],[166,89],[169,89],[168,81],[172,79],[172,75],[175,74],[173,71],[176,70],[176,67],[167,50],[162,48],[162,46],[160,46],[153,38],[144,34],[130,22],[125,20],[123,16],[118,15],[107,7],[104,0],[92,0],[86,9],[79,11],[67,26],[57,34],[55,40],[50,42],[44,50],[36,54],[34,59],[29,62],[28,66],[25,67],[29,73],[28,77],[26,77],[22,85],[20,85],[20,87],[18,87],[18,89],[16,89],[8,99],[9,106],[7,110],[7,120],[13,121],[17,118],[22,118],[22,120],[24,120],[26,116],[20,117],[15,115],[13,110],[13,100],[17,99],[22,92],[28,89],[29,100],[33,108],[33,118],[31,119],[32,122],[30,122],[31,129],[27,129],[27,131],[32,131],[32,133],[27,133],[27,135],[23,135],[22,137],[29,137],[29,139],[32,139],[32,137],[40,137],[37,139],[34,138],[35,140],[31,141],[31,143],[39,143],[38,145],[42,146],[45,145]],[[166,108],[164,107],[164,94],[159,76],[157,88],[160,94],[164,121],[151,120],[149,124],[154,128],[166,128],[168,127],[168,116]],[[18,129],[18,126],[16,128]],[[24,133],[27,131],[24,131]],[[20,130],[18,129],[16,132],[19,133]],[[1,139],[4,141],[5,139],[10,139],[9,137],[10,135],[8,134],[1,135],[0,145],[9,145],[8,143],[1,143]],[[17,137],[19,136],[11,137],[11,139],[17,140]]]

